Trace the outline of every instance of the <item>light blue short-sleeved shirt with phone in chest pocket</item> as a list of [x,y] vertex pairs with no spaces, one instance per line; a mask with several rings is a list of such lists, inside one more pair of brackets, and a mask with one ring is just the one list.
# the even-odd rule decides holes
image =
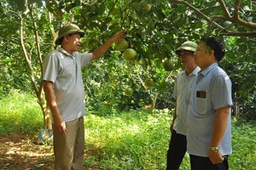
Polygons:
[[[191,87],[187,117],[187,150],[191,155],[208,157],[216,110],[232,105],[231,81],[225,71],[214,63],[198,73]],[[232,152],[231,113],[219,149],[223,156]]]

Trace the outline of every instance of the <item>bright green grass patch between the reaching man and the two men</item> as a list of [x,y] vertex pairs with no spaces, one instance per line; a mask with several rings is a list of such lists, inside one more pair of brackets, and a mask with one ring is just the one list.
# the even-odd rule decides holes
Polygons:
[[[121,115],[85,118],[85,165],[103,169],[164,169],[171,116],[157,111],[129,111]],[[188,160],[187,160],[188,161]]]

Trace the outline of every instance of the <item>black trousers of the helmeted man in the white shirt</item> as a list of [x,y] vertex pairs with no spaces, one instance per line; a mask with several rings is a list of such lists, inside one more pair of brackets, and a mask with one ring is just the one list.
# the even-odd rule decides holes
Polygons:
[[171,141],[167,151],[166,170],[178,170],[187,150],[187,139],[183,134],[172,130]]

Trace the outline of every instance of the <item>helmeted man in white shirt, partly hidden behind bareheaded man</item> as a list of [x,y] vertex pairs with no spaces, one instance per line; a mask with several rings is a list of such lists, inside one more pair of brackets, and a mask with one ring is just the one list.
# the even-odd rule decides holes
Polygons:
[[174,115],[172,118],[172,125],[170,127],[172,137],[167,151],[167,167],[166,170],[177,170],[183,161],[183,156],[187,150],[187,111],[189,106],[188,92],[190,83],[197,76],[200,68],[195,65],[195,50],[197,44],[195,42],[183,42],[180,48],[177,48],[176,54],[185,67],[176,78],[174,96],[176,97],[176,104]]

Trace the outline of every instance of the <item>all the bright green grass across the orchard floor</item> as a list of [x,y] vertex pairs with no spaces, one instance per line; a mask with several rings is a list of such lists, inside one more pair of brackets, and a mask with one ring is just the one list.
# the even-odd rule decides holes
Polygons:
[[[0,135],[36,134],[43,127],[43,115],[35,98],[14,93],[0,100]],[[170,111],[127,111],[111,116],[85,116],[84,166],[100,169],[158,169],[166,167],[170,139]],[[102,114],[104,115],[104,114]],[[233,120],[233,154],[230,169],[256,169],[255,122]],[[189,169],[186,154],[181,170]]]

